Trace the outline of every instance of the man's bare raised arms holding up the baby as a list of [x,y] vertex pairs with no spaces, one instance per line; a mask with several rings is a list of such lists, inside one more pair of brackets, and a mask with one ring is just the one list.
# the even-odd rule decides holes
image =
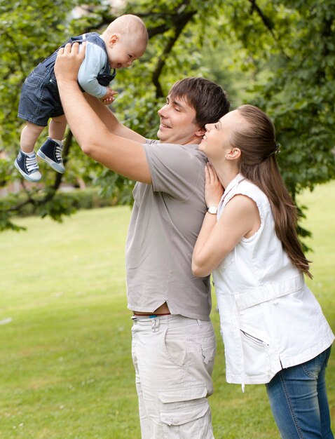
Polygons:
[[[130,133],[128,129],[124,130],[125,127],[103,104],[100,107],[99,102],[90,102],[93,104],[91,107],[88,103],[91,98],[84,97],[78,87],[77,76],[85,56],[84,45],[79,53],[78,43],[67,44],[59,50],[55,62],[55,75],[67,123],[86,155],[131,180],[151,183],[149,165],[140,143],[144,138],[139,136],[137,141],[133,140],[135,136],[131,135],[131,130]],[[131,135],[131,138],[120,137],[121,133]]]

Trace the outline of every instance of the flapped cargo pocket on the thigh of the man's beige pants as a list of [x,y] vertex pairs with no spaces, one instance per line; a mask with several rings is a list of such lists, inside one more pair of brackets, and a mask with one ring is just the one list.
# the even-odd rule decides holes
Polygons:
[[206,395],[203,384],[158,391],[163,439],[214,439]]

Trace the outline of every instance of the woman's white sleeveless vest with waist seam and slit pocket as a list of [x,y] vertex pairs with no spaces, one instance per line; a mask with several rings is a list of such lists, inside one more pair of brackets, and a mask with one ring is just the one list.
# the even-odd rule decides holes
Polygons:
[[236,194],[257,204],[261,227],[242,238],[213,272],[229,383],[264,384],[282,368],[304,363],[334,340],[303,274],[275,234],[268,198],[237,175],[221,198],[218,219]]

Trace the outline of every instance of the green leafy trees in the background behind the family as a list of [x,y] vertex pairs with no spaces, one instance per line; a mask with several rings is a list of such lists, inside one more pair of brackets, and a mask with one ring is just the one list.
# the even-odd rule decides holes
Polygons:
[[[272,117],[282,144],[280,167],[294,198],[301,189],[334,178],[335,0],[142,0],[113,12],[108,3],[95,1],[76,20],[70,14],[74,0],[51,5],[37,0],[37,5],[32,8],[23,0],[14,8],[0,0],[0,71],[5,78],[0,84],[0,148],[8,155],[0,161],[1,185],[13,180],[18,97],[29,70],[65,35],[103,29],[115,15],[127,12],[146,22],[150,37],[142,60],[120,72],[114,85],[119,92],[114,108],[130,128],[154,137],[156,110],[172,83],[203,75],[232,90],[233,107],[257,104]],[[1,202],[0,228],[15,227],[11,212],[25,203],[55,219],[71,213],[71,206],[55,203],[62,178],[75,182],[80,175],[108,194],[126,188],[130,202],[133,182],[84,157],[71,133],[64,154],[68,163],[63,177],[43,170],[43,189],[27,188],[21,201],[13,196]]]

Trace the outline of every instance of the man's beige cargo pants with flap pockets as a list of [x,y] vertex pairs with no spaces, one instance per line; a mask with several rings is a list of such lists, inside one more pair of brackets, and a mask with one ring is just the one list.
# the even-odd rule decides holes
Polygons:
[[182,316],[132,318],[142,439],[213,439],[212,323]]

